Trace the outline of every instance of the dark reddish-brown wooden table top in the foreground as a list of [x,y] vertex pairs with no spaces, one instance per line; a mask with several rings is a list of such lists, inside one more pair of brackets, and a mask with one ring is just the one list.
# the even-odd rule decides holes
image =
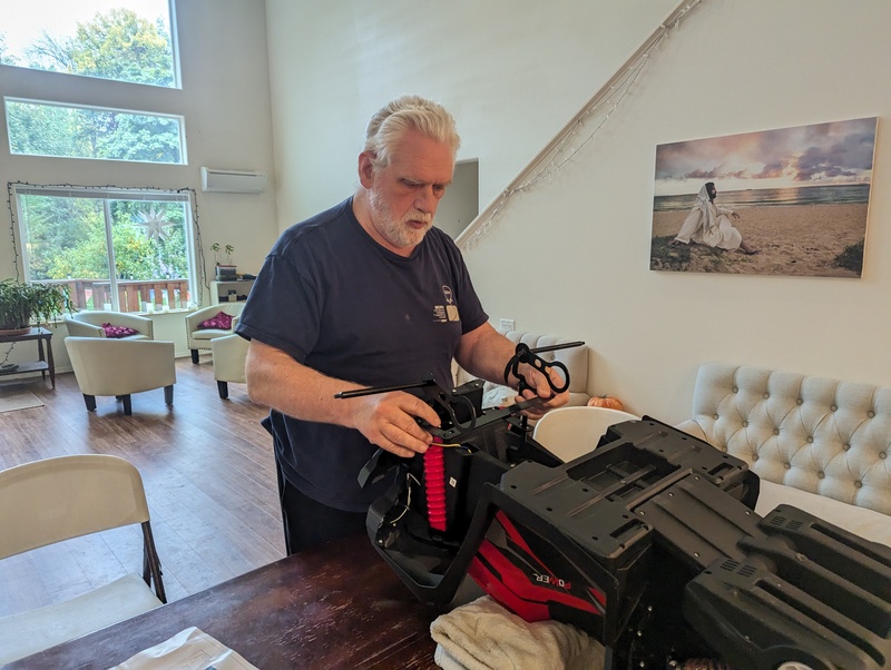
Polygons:
[[438,612],[360,535],[287,556],[8,668],[101,668],[195,625],[262,670],[430,669]]

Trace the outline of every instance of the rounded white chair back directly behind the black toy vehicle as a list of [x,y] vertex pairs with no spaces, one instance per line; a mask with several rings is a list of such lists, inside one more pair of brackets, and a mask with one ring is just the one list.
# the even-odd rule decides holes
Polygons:
[[532,439],[568,463],[594,451],[609,426],[638,418],[606,407],[558,407],[538,420]]

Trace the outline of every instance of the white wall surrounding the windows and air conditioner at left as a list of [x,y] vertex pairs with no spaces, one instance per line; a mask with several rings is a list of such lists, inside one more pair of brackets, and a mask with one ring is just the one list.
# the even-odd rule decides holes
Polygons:
[[[208,280],[214,242],[232,244],[239,269],[257,272],[278,230],[275,190],[205,194],[200,166],[264,170],[274,181],[266,20],[263,0],[180,0],[177,6],[183,89],[136,86],[0,66],[0,96],[56,100],[185,116],[187,166],[11,156],[0,119],[0,183],[193,188],[197,191]],[[1,115],[0,115],[1,116]],[[6,188],[4,188],[6,190]],[[6,209],[6,208],[4,208]],[[0,277],[14,277],[9,214],[0,227]],[[207,289],[205,300],[209,299]],[[160,318],[160,317],[159,317]],[[179,317],[182,321],[183,317]],[[157,324],[156,324],[157,326]],[[167,325],[161,325],[167,331]],[[169,328],[185,349],[184,327]],[[62,327],[58,339],[65,336]],[[18,345],[11,361],[35,356]],[[57,365],[68,366],[61,343]],[[6,347],[0,355],[6,354]]]

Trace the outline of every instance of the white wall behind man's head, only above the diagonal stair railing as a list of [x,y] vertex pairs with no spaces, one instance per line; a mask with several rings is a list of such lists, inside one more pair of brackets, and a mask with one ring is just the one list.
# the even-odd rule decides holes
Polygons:
[[283,229],[356,187],[365,124],[401,93],[456,116],[480,209],[675,0],[267,0]]

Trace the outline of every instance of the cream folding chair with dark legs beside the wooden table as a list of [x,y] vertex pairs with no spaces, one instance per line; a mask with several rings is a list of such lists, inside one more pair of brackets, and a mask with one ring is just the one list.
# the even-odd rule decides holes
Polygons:
[[141,574],[121,577],[65,602],[0,618],[0,666],[167,601],[143,479],[130,463],[117,456],[85,454],[0,472],[0,560],[130,524],[139,524],[143,531]]

